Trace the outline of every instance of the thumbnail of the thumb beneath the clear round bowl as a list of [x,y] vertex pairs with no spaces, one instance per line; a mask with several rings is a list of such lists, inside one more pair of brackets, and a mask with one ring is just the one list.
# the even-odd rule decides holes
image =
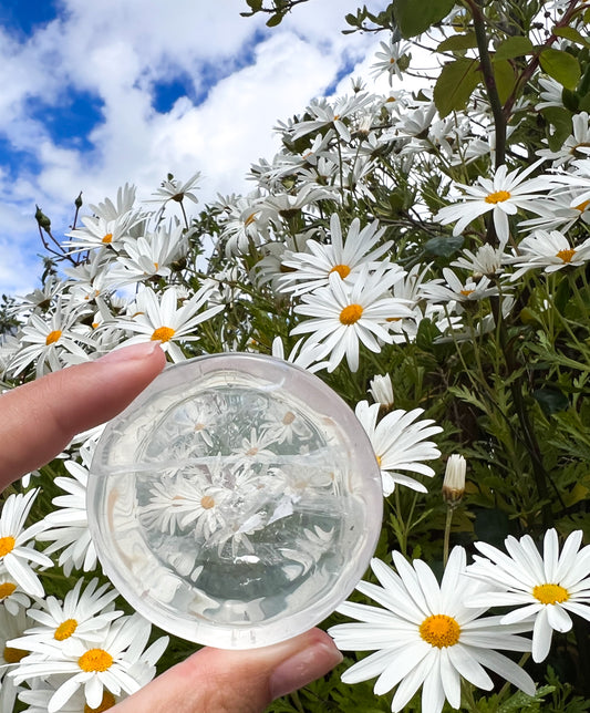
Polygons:
[[343,657],[330,641],[321,641],[280,663],[269,681],[272,700],[292,693],[331,671]]

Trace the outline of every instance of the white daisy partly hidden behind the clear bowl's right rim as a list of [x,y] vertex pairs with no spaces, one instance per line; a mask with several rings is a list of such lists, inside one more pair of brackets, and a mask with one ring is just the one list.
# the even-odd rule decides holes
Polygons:
[[366,431],[381,469],[383,495],[387,497],[396,484],[427,493],[418,480],[398,473],[411,471],[427,477],[434,475],[433,468],[424,465],[423,461],[433,461],[441,457],[441,451],[432,441],[425,441],[435,433],[441,433],[441,426],[432,425],[432,418],[416,421],[424,413],[423,409],[403,411],[397,409],[387,413],[377,423],[381,404],[369,404],[360,401],[354,413]]

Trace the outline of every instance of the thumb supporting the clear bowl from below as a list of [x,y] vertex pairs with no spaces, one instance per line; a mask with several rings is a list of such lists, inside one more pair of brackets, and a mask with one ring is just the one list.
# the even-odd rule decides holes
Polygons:
[[262,649],[206,648],[118,703],[113,713],[261,713],[341,661],[320,629]]

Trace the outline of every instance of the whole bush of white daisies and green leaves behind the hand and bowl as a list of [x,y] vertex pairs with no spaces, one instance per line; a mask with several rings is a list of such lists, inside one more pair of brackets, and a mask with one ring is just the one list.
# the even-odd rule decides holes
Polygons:
[[[311,102],[251,193],[199,213],[198,174],[154,208],[126,185],[64,240],[38,210],[42,285],[4,309],[7,388],[157,340],[173,362],[288,359],[355,410],[382,537],[327,622],[348,659],[277,712],[590,707],[590,10],[428,8],[392,4],[375,64],[400,83],[429,48],[420,91]],[[348,17],[368,19],[391,12]],[[189,650],[149,640],[100,571],[100,431],[4,497],[2,711],[104,711]]]

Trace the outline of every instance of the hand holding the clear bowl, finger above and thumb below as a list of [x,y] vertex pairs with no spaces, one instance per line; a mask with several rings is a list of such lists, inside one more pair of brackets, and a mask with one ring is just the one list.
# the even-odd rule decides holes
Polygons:
[[[80,431],[108,421],[162,371],[156,342],[111,352],[0,396],[0,489],[63,451]],[[113,707],[113,713],[256,713],[342,660],[313,629],[251,651],[205,648]]]

